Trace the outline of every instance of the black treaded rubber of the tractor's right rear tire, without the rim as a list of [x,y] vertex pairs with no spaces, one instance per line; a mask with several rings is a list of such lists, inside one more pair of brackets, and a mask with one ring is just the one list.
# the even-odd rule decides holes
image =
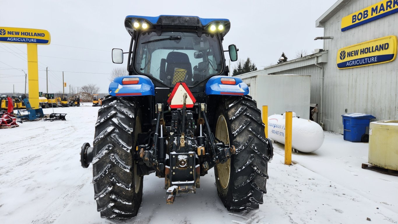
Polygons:
[[256,210],[263,203],[263,194],[267,192],[265,185],[269,161],[266,150],[268,140],[265,138],[261,111],[250,96],[231,96],[220,105],[225,105],[224,110],[228,115],[226,120],[229,121],[232,132],[230,144],[236,147],[236,153],[231,158],[231,193],[229,197],[222,195],[217,186],[219,197],[230,212]]

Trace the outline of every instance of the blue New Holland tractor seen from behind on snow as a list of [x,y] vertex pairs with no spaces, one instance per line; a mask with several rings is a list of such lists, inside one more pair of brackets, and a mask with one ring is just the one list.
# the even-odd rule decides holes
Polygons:
[[195,193],[215,168],[218,195],[228,211],[256,210],[267,191],[273,147],[261,111],[240,78],[228,76],[223,49],[228,19],[127,16],[129,76],[117,77],[98,111],[94,146],[81,163],[93,164],[94,199],[102,218],[137,215],[143,177],[164,178],[166,203]]

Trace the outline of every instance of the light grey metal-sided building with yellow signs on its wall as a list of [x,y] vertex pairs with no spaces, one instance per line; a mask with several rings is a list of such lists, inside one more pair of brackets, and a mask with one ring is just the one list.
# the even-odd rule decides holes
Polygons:
[[338,0],[316,20],[323,50],[258,72],[311,75],[310,101],[325,130],[342,134],[346,113],[398,119],[396,12],[398,0]]

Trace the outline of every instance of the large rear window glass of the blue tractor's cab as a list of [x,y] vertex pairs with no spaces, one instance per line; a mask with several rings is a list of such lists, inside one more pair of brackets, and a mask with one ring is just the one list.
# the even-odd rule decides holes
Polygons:
[[135,55],[137,71],[168,86],[193,86],[222,70],[220,43],[215,35],[148,31],[140,35]]

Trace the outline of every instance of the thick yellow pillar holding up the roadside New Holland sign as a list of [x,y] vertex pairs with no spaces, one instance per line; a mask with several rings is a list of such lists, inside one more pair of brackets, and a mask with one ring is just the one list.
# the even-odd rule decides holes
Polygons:
[[27,43],[27,74],[29,78],[29,103],[39,109],[39,72],[37,67],[37,44]]

